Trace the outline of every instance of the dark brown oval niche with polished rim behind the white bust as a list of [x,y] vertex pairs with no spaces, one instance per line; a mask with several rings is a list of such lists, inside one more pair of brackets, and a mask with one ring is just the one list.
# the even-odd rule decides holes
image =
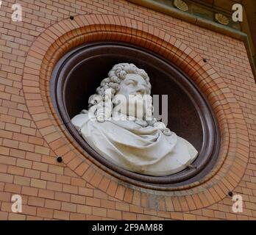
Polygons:
[[[191,167],[170,176],[132,173],[100,156],[71,124],[72,117],[82,109],[88,109],[89,96],[95,93],[108,71],[121,62],[133,63],[148,73],[152,95],[168,95],[168,128],[199,151]],[[145,48],[118,42],[87,43],[74,48],[54,68],[51,98],[69,133],[83,151],[93,161],[126,177],[127,181],[132,179],[163,188],[191,184],[206,176],[218,157],[218,123],[205,95],[177,66]]]

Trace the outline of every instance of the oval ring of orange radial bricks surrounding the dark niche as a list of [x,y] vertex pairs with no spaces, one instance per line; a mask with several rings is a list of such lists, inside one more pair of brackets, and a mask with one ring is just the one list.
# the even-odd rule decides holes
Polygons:
[[[49,97],[49,81],[54,65],[71,48],[82,43],[119,40],[149,48],[174,62],[193,79],[213,106],[221,131],[221,150],[212,172],[200,181],[172,191],[145,188],[102,166],[86,155],[65,130]],[[246,169],[249,158],[249,137],[243,114],[224,80],[203,61],[199,54],[167,32],[149,24],[118,15],[79,15],[50,26],[35,40],[26,57],[23,89],[25,99],[35,97],[35,106],[26,102],[40,133],[56,156],[93,187],[118,200],[136,204],[159,201],[166,211],[200,209],[226,197]],[[44,129],[53,129],[44,134]],[[134,183],[134,184],[133,184]],[[181,205],[181,206],[177,206]]]

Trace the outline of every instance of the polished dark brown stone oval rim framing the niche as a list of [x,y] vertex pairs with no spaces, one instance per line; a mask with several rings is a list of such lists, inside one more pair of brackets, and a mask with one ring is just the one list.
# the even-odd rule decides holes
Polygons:
[[[187,168],[171,176],[145,176],[138,173],[132,173],[129,170],[124,170],[123,168],[118,167],[104,159],[104,157],[94,151],[93,148],[91,148],[90,145],[88,145],[88,143],[85,142],[85,140],[78,134],[77,130],[74,129],[74,126],[71,124],[71,120],[68,116],[67,110],[65,109],[65,101],[63,98],[63,87],[65,87],[67,81],[65,81],[65,79],[60,79],[61,74],[63,74],[63,71],[67,69],[71,70],[71,68],[79,61],[79,57],[82,57],[82,55],[86,54],[86,51],[96,50],[97,48],[104,48],[106,46],[115,46],[126,49],[129,48],[131,50],[137,50],[138,53],[146,53],[149,55],[149,57],[154,57],[154,59],[163,62],[166,68],[168,68],[168,72],[177,76],[177,81],[179,81],[177,83],[182,87],[183,90],[185,90],[185,92],[191,98],[191,101],[193,101],[193,104],[199,113],[199,117],[202,123],[203,143],[201,151],[199,151],[199,156],[197,157],[196,161],[193,162],[193,166],[195,168]],[[146,183],[152,185],[152,187],[155,185],[157,186],[157,189],[159,186],[163,188],[185,186],[187,184],[193,183],[194,181],[199,181],[201,178],[206,176],[207,173],[210,173],[210,170],[216,163],[220,149],[221,137],[216,116],[210,104],[208,104],[205,95],[185,73],[177,68],[176,65],[173,65],[167,59],[145,48],[120,42],[95,42],[78,46],[77,48],[74,48],[65,54],[59,60],[59,62],[57,62],[57,65],[55,65],[54,72],[51,76],[50,92],[57,115],[59,115],[60,119],[63,120],[65,127],[68,129],[68,132],[71,134],[74,140],[83,148],[86,153],[89,154],[91,160],[95,162],[96,159],[96,161],[100,164],[103,164],[104,167],[112,170],[113,175],[117,176],[117,173],[118,178],[131,182],[132,184],[135,182],[141,185],[143,182],[144,184]],[[200,159],[200,161],[197,161],[198,159]]]

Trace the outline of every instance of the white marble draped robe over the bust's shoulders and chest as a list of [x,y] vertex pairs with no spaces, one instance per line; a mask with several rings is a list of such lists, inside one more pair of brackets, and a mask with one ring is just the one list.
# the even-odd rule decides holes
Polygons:
[[166,136],[153,126],[132,120],[98,122],[82,113],[71,122],[101,156],[126,170],[150,176],[167,176],[191,164],[198,152],[190,142],[172,132]]

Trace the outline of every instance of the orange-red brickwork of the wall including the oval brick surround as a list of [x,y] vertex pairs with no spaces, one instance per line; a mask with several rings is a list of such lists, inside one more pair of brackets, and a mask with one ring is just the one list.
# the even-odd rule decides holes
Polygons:
[[[3,199],[0,220],[253,220],[256,217],[256,188],[252,178],[256,170],[256,89],[243,40],[145,10],[128,1],[115,4],[77,1],[70,6],[38,1],[25,8],[26,21],[22,24],[9,24],[10,19],[0,17],[0,191],[7,193],[0,192]],[[93,15],[95,12],[102,15]],[[111,15],[113,12],[115,16]],[[62,21],[65,15],[72,14],[79,16],[74,21]],[[93,26],[88,26],[92,23]],[[78,26],[81,28],[70,32]],[[104,34],[100,32],[102,29]],[[78,34],[90,31],[96,33],[75,39]],[[64,34],[65,37],[58,39]],[[49,79],[57,59],[70,48],[85,43],[82,40],[118,38],[172,59],[205,93],[218,118],[221,148],[230,151],[225,156],[221,152],[220,158],[226,158],[224,164],[207,184],[174,192],[175,197],[163,192],[165,200],[152,190],[141,192],[138,186],[129,188],[127,182],[124,184],[94,167],[77,151],[77,146],[69,145],[70,140],[61,133],[63,126],[58,126],[62,124],[57,115],[50,115],[54,107],[49,102]],[[65,40],[68,43],[62,46]],[[61,164],[56,162],[58,155],[63,156]],[[85,162],[80,164],[82,159]],[[226,174],[229,169],[232,171]],[[243,214],[230,213],[232,201],[227,191],[233,188],[243,194],[246,205]],[[199,194],[197,189],[205,191]],[[23,195],[24,214],[10,212],[10,195],[15,192]],[[180,197],[183,192],[187,196]],[[38,205],[29,205],[33,198],[38,199]]]

